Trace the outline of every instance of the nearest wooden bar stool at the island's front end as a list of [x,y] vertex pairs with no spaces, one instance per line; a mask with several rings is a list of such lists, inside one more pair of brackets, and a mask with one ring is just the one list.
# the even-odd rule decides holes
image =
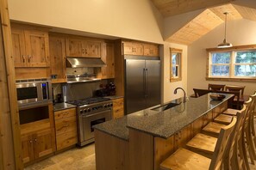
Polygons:
[[231,124],[221,130],[212,159],[188,149],[179,148],[160,164],[160,169],[220,169],[222,158],[226,152],[227,144],[230,142],[230,135],[234,130],[235,123],[236,118],[233,119]]

